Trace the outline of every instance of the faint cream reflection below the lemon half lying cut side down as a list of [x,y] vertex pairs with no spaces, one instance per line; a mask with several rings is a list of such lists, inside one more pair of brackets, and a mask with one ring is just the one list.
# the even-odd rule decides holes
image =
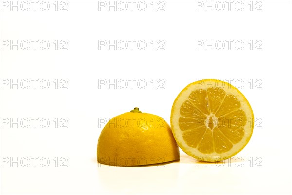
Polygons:
[[160,194],[169,186],[179,187],[179,160],[132,167],[97,164],[96,169],[101,190],[109,194]]

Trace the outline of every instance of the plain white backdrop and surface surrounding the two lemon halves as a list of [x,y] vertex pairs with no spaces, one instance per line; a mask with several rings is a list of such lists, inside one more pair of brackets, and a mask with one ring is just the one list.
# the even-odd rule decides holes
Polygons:
[[[250,0],[242,1],[242,11],[235,9],[236,1],[230,11],[225,1],[223,11],[216,7],[214,11],[211,7],[205,11],[198,6],[196,11],[196,3],[200,5],[200,2],[192,0],[164,0],[164,11],[157,11],[163,5],[158,6],[158,1],[153,11],[152,0],[146,1],[146,11],[137,9],[138,1],[133,11],[129,7],[126,11],[113,8],[107,11],[107,7],[99,11],[99,2],[94,0],[67,0],[67,11],[60,11],[65,3],[57,2],[58,11],[55,11],[55,0],[48,1],[49,10],[42,11],[40,2],[36,11],[32,3],[29,11],[21,7],[19,11],[16,7],[11,11],[10,5],[3,6],[1,0],[1,194],[292,193],[290,0],[253,1],[252,11]],[[259,5],[262,11],[255,11]],[[237,6],[240,8],[240,4]],[[12,49],[10,45],[3,46],[7,43],[3,40],[14,43],[48,40],[50,47],[43,50],[38,42],[34,50],[31,42],[28,50],[23,49],[26,45],[19,45],[17,50],[17,46]],[[59,42],[57,50],[55,40]],[[60,50],[61,40],[68,42],[67,50]],[[130,45],[126,50],[114,50],[113,46],[110,50],[107,47],[99,50],[99,40],[111,43],[136,40],[136,44],[133,50]],[[137,48],[139,40],[147,42],[145,50]],[[163,40],[164,50],[157,50],[158,45],[153,50],[152,40],[156,44]],[[196,40],[208,43],[233,40],[233,43],[230,50],[227,42],[223,50],[218,49],[221,45],[214,50],[211,46],[196,49]],[[244,42],[242,50],[235,48],[237,40]],[[253,40],[252,50],[250,40]],[[256,40],[262,43],[261,50],[255,50]],[[163,167],[97,164],[97,140],[104,126],[99,123],[101,118],[112,118],[139,107],[142,112],[156,114],[169,123],[171,106],[179,92],[187,84],[203,78],[234,79],[233,85],[237,81],[236,86],[241,88],[258,118],[249,144],[234,156],[239,158],[237,162],[225,161],[223,167],[196,164],[195,159],[181,151],[180,162]],[[50,86],[42,89],[38,81],[34,89],[31,81],[29,89],[21,85],[19,89],[17,85],[10,89],[10,83],[3,85],[7,79],[9,82],[10,79],[14,82],[48,79]],[[55,89],[55,79],[59,82],[58,89]],[[60,83],[61,79],[68,81],[65,86],[68,89],[60,89],[64,83]],[[98,85],[99,79],[136,81],[133,89],[129,81],[128,87],[121,89],[123,80],[116,89],[114,85],[108,89],[108,85]],[[140,79],[146,80],[145,89],[140,89],[143,83],[137,85]],[[162,80],[158,82],[159,79]],[[158,89],[161,83],[164,89]],[[10,123],[3,124],[3,118],[9,121],[10,118],[14,121],[48,118],[50,125],[42,128],[38,120],[34,128],[31,120],[28,128],[21,124],[19,128],[17,124],[11,128]],[[57,128],[55,118],[59,120]],[[68,128],[60,128],[64,122],[61,118],[68,120],[65,125]],[[10,160],[17,161],[18,157],[19,167],[16,162],[11,165]],[[25,157],[31,159],[28,167],[23,166],[27,164]],[[36,167],[31,157],[38,157]],[[50,160],[48,167],[40,164],[42,157]],[[61,157],[68,159],[67,167],[61,167],[64,162]],[[9,162],[4,163],[5,159]],[[244,160],[241,167],[240,159]]]

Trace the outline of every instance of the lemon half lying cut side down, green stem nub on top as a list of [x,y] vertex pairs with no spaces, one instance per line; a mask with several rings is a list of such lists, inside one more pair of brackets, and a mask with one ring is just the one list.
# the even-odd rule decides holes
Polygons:
[[98,139],[97,161],[101,164],[139,166],[179,158],[170,126],[138,108],[110,119]]

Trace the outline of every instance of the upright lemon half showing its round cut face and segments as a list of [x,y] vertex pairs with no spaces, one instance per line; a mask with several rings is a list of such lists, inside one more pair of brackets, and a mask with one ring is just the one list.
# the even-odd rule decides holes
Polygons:
[[254,128],[253,110],[244,95],[215,79],[187,85],[173,103],[170,120],[180,148],[208,162],[236,155],[249,142]]

